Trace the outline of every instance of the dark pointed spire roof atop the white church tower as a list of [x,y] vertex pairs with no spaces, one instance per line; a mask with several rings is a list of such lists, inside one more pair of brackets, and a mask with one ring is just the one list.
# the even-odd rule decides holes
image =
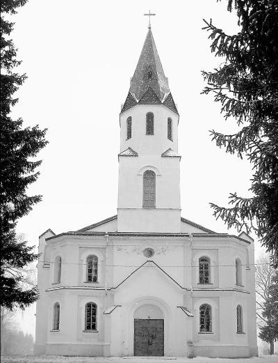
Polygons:
[[[167,102],[165,102],[167,101]],[[165,102],[165,103],[164,103]],[[122,112],[135,105],[164,104],[178,113],[149,27]]]

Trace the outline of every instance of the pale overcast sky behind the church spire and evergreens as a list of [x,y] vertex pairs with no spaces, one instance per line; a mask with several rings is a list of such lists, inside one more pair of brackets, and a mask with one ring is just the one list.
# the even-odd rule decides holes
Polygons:
[[211,95],[200,95],[206,85],[201,70],[223,61],[211,54],[202,19],[236,33],[227,1],[29,0],[13,16],[19,72],[28,75],[13,114],[26,126],[47,128],[49,141],[39,155],[40,177],[28,190],[42,194],[42,202],[17,224],[31,245],[49,228],[74,231],[117,214],[120,107],[149,10],[156,13],[152,32],[180,114],[181,215],[225,233],[208,203],[227,205],[229,192],[250,196],[249,162],[224,153],[209,133],[235,132],[236,123],[224,120]]

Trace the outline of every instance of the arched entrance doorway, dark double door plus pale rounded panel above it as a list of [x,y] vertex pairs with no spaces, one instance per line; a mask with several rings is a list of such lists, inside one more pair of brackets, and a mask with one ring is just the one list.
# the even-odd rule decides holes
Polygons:
[[134,312],[134,355],[164,355],[164,314],[154,304],[144,304]]

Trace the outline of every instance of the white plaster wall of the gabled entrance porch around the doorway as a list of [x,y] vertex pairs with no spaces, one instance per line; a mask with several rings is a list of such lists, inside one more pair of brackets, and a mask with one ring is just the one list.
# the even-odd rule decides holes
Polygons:
[[[140,274],[134,274],[131,279],[126,280],[115,291],[115,304],[120,302],[122,305],[120,355],[133,355],[134,312],[142,304],[154,304],[163,311],[165,355],[186,355],[184,343],[186,316],[182,320],[177,308],[183,302],[183,291],[169,281],[161,271],[157,268],[146,267]],[[112,339],[115,334],[118,334],[116,329]]]

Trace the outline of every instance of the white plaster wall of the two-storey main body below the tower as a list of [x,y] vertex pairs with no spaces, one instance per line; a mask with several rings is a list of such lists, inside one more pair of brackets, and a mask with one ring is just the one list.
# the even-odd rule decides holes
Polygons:
[[[44,242],[43,245],[45,246]],[[239,256],[243,263],[248,260],[250,268],[254,267],[253,246],[247,246],[245,242],[237,242],[231,238],[223,240],[195,237],[192,241],[189,237],[111,235],[108,236],[108,240],[105,236],[64,236],[49,240],[47,245],[51,257],[50,265],[52,258],[57,255],[62,257],[65,264],[62,264],[61,283],[57,285],[52,284],[52,267],[43,267],[43,263],[39,267],[38,284],[41,298],[37,308],[36,352],[67,354],[70,351],[79,355],[132,355],[133,313],[140,304],[154,304],[163,311],[167,320],[167,355],[187,355],[187,342],[190,341],[193,341],[195,353],[198,355],[236,357],[256,354],[254,268],[245,270],[245,285],[237,286],[238,289],[244,287],[244,290],[250,293],[190,289],[190,286],[236,288],[234,260]],[[153,248],[155,252],[149,259],[163,268],[169,277],[153,264],[134,272],[148,260],[142,254],[143,249],[147,247]],[[96,254],[99,258],[98,284],[84,284],[84,263],[88,254]],[[212,286],[196,284],[195,266],[199,256],[209,256],[211,263],[216,265],[212,272]],[[228,267],[229,273],[221,265],[231,265],[231,268]],[[115,288],[132,272],[134,273],[129,279]],[[220,274],[225,276],[222,277]],[[107,281],[106,276],[109,277]],[[188,290],[179,287],[170,277]],[[108,288],[107,295],[104,286]],[[60,289],[45,293],[47,288]],[[90,290],[85,290],[86,288]],[[98,307],[98,332],[83,332],[85,302],[89,301],[95,302]],[[60,304],[59,332],[51,332],[55,302]],[[213,334],[198,332],[198,309],[202,303],[212,304]],[[122,307],[117,307],[111,316],[103,315],[104,310],[113,304]],[[237,304],[243,307],[245,334],[236,334]],[[194,318],[183,314],[177,306],[188,307]],[[177,328],[175,332],[172,327]],[[239,347],[239,350],[236,350],[236,347]]]

